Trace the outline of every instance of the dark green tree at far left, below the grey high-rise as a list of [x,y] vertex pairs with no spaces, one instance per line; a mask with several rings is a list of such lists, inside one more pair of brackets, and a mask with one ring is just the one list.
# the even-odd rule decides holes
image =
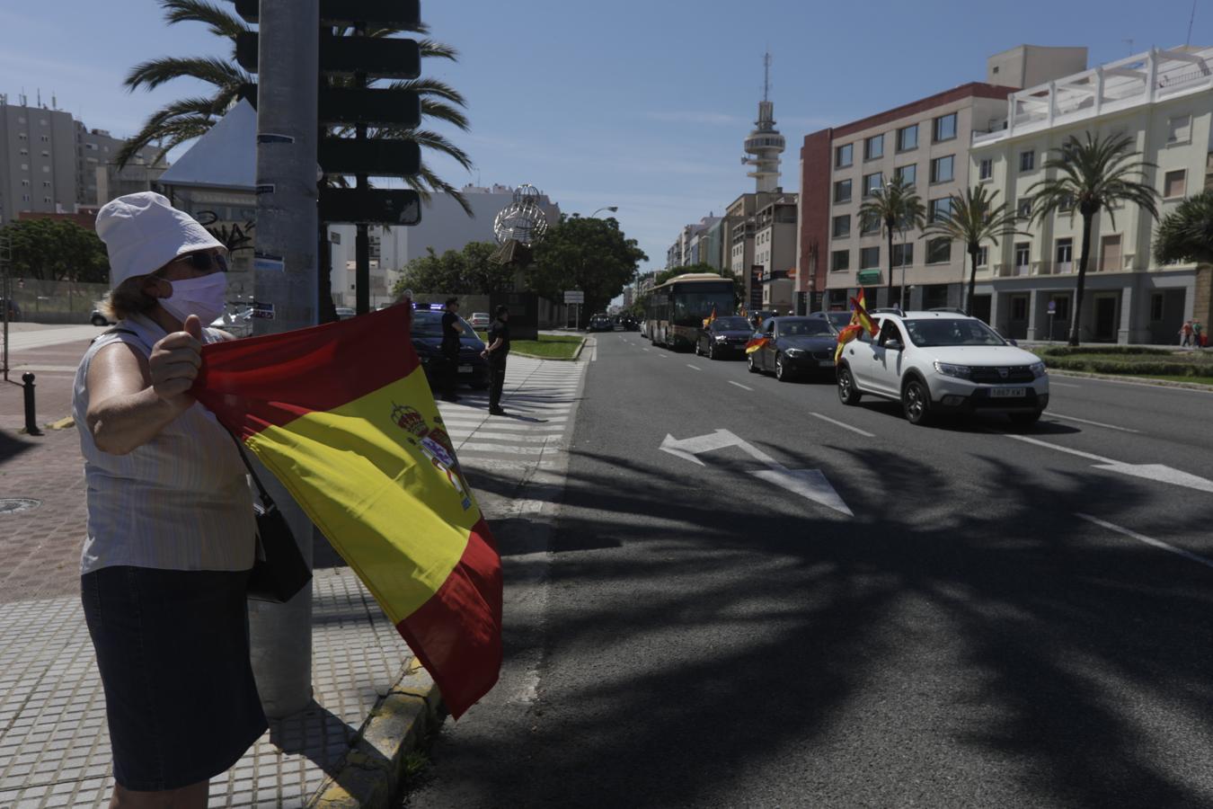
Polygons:
[[11,239],[12,273],[44,281],[109,283],[106,244],[67,220],[18,220],[4,227]]

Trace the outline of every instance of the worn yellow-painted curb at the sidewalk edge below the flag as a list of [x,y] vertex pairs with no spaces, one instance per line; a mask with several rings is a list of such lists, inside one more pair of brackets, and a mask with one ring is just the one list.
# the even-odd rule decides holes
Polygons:
[[336,775],[326,776],[307,809],[387,809],[408,775],[408,758],[442,720],[442,696],[414,657],[363,723]]

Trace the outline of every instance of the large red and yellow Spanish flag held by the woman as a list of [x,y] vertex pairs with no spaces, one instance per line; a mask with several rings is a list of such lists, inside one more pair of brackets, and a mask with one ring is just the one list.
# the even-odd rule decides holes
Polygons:
[[501,558],[410,306],[203,348],[193,393],[291,492],[459,717],[501,668]]

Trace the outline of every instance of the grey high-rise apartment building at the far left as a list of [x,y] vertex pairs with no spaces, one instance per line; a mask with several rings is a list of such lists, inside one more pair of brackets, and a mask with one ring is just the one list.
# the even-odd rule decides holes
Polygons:
[[[24,96],[18,101],[12,104],[0,93],[0,223],[21,212],[70,213],[79,205],[108,203],[98,173],[115,186],[118,177],[106,172],[124,141],[53,109],[53,99],[51,107],[30,107]],[[133,164],[147,166],[155,149],[146,152]]]

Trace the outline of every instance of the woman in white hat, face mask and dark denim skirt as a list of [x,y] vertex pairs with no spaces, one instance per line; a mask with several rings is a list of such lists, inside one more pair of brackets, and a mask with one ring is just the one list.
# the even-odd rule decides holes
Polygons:
[[110,807],[203,809],[267,728],[249,661],[252,496],[232,435],[189,395],[203,344],[230,338],[203,327],[223,312],[227,250],[150,192],[102,207],[97,234],[118,325],[80,361],[73,414]]

